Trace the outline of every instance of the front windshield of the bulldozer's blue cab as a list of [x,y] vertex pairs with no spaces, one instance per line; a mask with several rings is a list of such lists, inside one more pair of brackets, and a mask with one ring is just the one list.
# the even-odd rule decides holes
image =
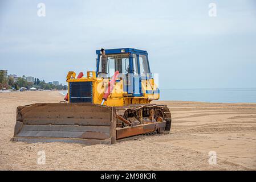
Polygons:
[[98,76],[112,77],[116,71],[119,71],[120,76],[129,73],[129,54],[100,55]]

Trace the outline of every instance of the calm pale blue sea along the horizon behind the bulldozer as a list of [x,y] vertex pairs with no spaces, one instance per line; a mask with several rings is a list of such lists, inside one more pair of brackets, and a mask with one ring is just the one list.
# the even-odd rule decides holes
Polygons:
[[160,89],[160,101],[256,103],[256,88]]

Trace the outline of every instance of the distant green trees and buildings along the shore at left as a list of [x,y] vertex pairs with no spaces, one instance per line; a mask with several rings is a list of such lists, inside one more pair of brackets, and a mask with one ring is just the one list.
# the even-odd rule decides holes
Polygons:
[[5,76],[0,73],[0,89],[20,89],[25,87],[30,89],[34,87],[36,89],[43,89],[43,90],[67,90],[67,85],[53,85],[51,83],[46,83],[44,80],[39,80],[39,78],[35,78],[34,82],[27,82],[26,76],[23,75],[22,77],[18,77],[17,82],[14,82],[13,77],[8,77],[7,79]]

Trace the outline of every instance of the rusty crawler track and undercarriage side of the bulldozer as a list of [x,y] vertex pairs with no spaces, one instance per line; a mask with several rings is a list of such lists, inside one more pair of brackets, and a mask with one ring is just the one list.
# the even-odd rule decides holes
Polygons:
[[[166,105],[136,104],[123,107],[115,107],[115,110],[117,115],[132,123],[132,126],[128,126],[127,123],[124,123],[120,119],[117,119],[117,139],[130,137],[132,135],[155,134],[164,132],[169,133],[170,131],[172,118],[170,110]],[[151,125],[151,129],[145,129],[145,124]],[[161,125],[164,127],[162,127]],[[140,129],[141,126],[143,126],[144,129]],[[153,129],[154,126],[155,129]],[[135,127],[137,127],[138,129],[134,129]],[[133,129],[133,131],[124,131],[123,133],[125,134],[121,135],[120,137],[119,133],[122,132],[122,129]]]

